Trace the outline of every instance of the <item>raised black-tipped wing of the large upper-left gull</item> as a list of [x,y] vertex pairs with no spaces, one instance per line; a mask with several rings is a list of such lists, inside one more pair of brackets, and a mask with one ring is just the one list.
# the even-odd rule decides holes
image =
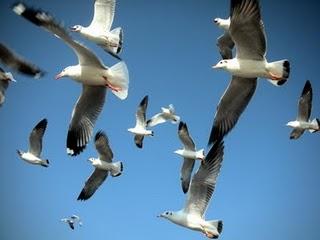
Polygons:
[[76,53],[81,65],[93,65],[104,68],[104,65],[88,48],[77,41],[74,41],[67,30],[62,27],[49,13],[42,10],[33,9],[24,3],[14,4],[13,11],[26,18],[37,26],[43,27],[47,31],[62,39]]

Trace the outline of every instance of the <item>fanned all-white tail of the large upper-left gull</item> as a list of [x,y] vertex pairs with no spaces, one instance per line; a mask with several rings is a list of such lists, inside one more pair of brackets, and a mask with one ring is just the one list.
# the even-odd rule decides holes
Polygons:
[[110,69],[111,83],[119,87],[119,90],[112,90],[113,94],[121,100],[124,100],[128,96],[129,88],[129,72],[125,62],[121,61],[113,65]]

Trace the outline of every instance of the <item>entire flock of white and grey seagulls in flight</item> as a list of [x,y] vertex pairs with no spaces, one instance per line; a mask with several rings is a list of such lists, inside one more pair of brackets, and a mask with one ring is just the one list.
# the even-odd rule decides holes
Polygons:
[[[12,10],[31,23],[39,26],[61,39],[76,54],[78,64],[68,66],[57,74],[56,79],[69,77],[82,84],[82,93],[72,110],[72,116],[66,137],[67,154],[77,156],[84,151],[92,138],[95,122],[101,113],[107,90],[121,100],[125,100],[129,90],[129,74],[125,62],[121,59],[123,30],[112,29],[115,14],[115,0],[95,0],[94,16],[88,27],[75,25],[70,28],[81,36],[101,46],[119,62],[111,67],[105,66],[100,58],[89,48],[74,40],[68,29],[60,24],[48,12],[34,9],[25,3],[16,3]],[[287,82],[290,75],[288,60],[268,62],[266,59],[266,34],[261,19],[258,0],[231,0],[230,16],[227,19],[215,18],[214,23],[224,30],[217,39],[222,60],[213,66],[231,74],[231,81],[220,99],[214,117],[213,127],[208,140],[210,150],[197,150],[189,134],[187,124],[176,115],[174,106],[162,107],[161,112],[147,119],[149,97],[146,95],[136,111],[136,125],[128,131],[134,134],[134,143],[143,147],[145,137],[154,136],[151,128],[171,121],[178,125],[178,138],[183,148],[175,151],[183,157],[180,171],[181,187],[186,201],[179,211],[165,211],[159,217],[177,225],[200,231],[208,238],[218,238],[223,229],[222,220],[206,220],[205,213],[213,195],[224,156],[224,137],[234,128],[241,114],[249,104],[257,87],[257,79],[265,78],[276,86]],[[235,57],[233,49],[235,48]],[[34,64],[19,57],[7,46],[0,43],[0,61],[12,70],[33,78],[44,76],[45,72]],[[5,90],[9,82],[14,82],[10,72],[0,68],[0,106],[5,101]],[[299,138],[305,130],[320,130],[320,121],[310,121],[312,107],[312,87],[307,81],[298,103],[298,116],[287,125],[294,128],[290,138]],[[49,161],[41,157],[42,142],[47,128],[47,119],[41,120],[29,136],[27,152],[17,150],[20,158],[30,164],[49,166]],[[123,172],[123,163],[113,160],[113,151],[109,139],[102,130],[94,138],[98,157],[89,158],[94,167],[86,180],[77,200],[88,200],[106,180],[109,172],[118,177]],[[200,165],[192,175],[196,160]],[[74,229],[75,224],[82,225],[80,217],[72,215],[61,219]]]

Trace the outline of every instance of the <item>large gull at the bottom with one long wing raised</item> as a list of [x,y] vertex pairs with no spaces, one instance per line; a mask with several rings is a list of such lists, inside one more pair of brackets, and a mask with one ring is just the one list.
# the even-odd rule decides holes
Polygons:
[[216,142],[210,149],[197,173],[193,176],[185,206],[180,211],[166,211],[159,215],[169,221],[200,231],[208,238],[218,238],[222,232],[221,220],[205,220],[205,212],[213,194],[223,160],[223,142]]

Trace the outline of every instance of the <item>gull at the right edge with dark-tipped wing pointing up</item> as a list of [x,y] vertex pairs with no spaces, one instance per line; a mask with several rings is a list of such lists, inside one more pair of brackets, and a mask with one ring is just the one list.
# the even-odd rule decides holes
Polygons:
[[298,139],[305,130],[317,132],[320,130],[318,118],[309,121],[312,109],[312,87],[310,81],[306,81],[298,102],[298,116],[295,121],[290,121],[287,126],[294,128],[290,134],[290,139]]

